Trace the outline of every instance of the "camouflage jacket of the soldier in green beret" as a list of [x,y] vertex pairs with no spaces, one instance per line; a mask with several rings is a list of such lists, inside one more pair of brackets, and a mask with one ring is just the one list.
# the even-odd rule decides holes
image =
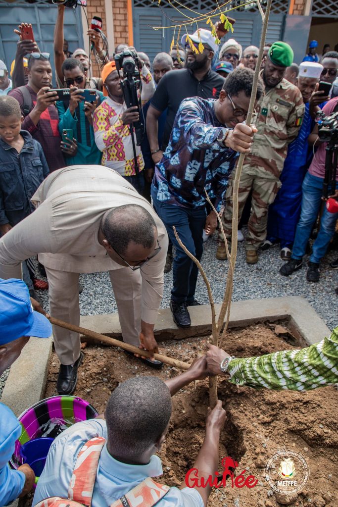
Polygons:
[[279,178],[288,144],[298,135],[304,115],[304,103],[297,87],[282,79],[259,99],[256,106],[254,135],[250,155],[245,157],[245,172]]

